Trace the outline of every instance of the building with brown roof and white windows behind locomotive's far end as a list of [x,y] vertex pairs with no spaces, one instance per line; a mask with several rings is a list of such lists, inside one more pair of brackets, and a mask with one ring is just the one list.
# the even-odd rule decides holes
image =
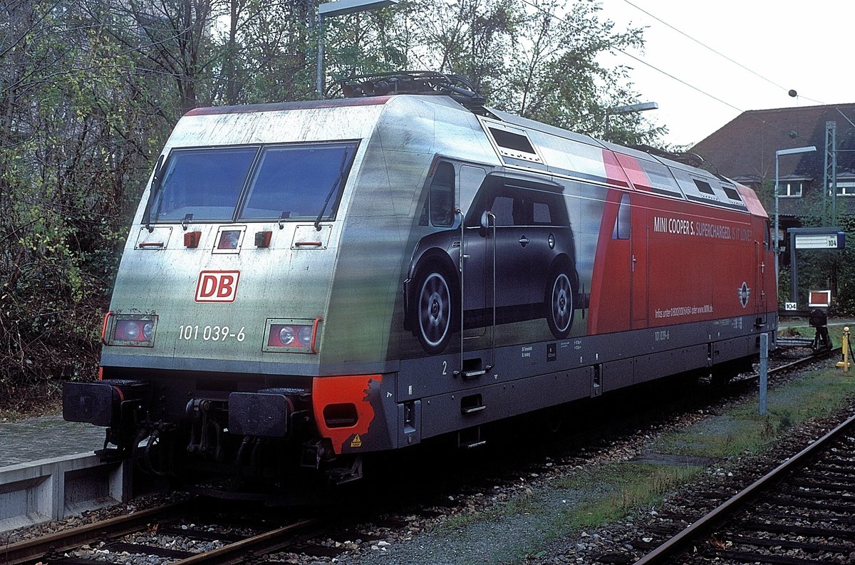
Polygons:
[[[775,153],[810,146],[816,150],[778,156],[782,267],[790,264],[787,229],[834,226],[852,232],[855,226],[855,103],[746,111],[689,150],[712,173],[752,186],[774,225]],[[855,312],[844,257],[835,252],[805,256],[805,263],[799,258],[799,305],[805,306],[810,286],[831,289],[836,311]],[[789,277],[779,280],[779,298],[792,301]]]

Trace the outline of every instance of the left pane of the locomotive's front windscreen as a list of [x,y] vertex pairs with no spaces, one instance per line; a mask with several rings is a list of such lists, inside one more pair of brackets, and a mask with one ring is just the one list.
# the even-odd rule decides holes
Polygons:
[[257,147],[173,150],[152,195],[150,221],[231,221]]

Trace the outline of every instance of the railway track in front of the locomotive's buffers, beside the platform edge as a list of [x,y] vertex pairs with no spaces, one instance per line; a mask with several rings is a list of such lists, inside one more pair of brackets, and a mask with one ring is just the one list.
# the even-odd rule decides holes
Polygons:
[[[206,513],[206,508],[205,501],[193,498],[9,544],[0,548],[0,562],[88,565],[125,562],[126,556],[136,555],[139,562],[226,565],[282,550],[295,535],[321,522],[304,518],[270,525],[262,519]],[[177,539],[183,543],[176,544]]]

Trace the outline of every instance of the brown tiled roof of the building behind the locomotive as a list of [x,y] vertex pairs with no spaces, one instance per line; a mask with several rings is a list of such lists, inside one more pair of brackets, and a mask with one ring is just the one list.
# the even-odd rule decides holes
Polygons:
[[855,173],[855,103],[749,110],[696,144],[713,173],[740,182],[775,178],[775,151],[814,145],[817,151],[781,156],[781,178],[822,184],[825,122],[837,122],[837,174]]

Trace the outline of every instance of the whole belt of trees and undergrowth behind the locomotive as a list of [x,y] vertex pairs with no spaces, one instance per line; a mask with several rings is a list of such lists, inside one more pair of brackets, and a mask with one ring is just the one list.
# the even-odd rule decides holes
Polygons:
[[[315,96],[319,0],[0,4],[0,394],[95,373],[122,242],[160,148],[200,105]],[[597,4],[401,0],[329,18],[328,76],[462,74],[498,109],[607,138],[655,136],[626,69],[641,46]],[[560,17],[559,17],[560,15]]]

